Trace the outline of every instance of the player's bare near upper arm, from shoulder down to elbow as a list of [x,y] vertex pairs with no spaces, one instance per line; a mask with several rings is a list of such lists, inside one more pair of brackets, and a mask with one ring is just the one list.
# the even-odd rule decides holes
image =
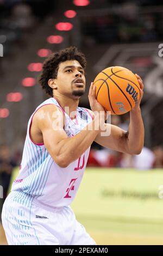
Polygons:
[[68,138],[64,131],[64,121],[64,113],[55,105],[42,107],[37,117],[37,125],[42,132],[45,147],[60,167],[66,166],[64,159],[60,157],[60,142]]

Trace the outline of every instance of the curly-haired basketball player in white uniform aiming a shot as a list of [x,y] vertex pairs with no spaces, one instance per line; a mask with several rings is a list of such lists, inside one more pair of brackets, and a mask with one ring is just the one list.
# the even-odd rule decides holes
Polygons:
[[90,146],[96,141],[123,153],[141,152],[141,78],[137,76],[141,96],[130,111],[129,131],[111,125],[111,135],[106,137],[101,131],[110,124],[105,124],[106,113],[95,99],[93,83],[91,110],[78,107],[85,92],[85,67],[85,57],[76,47],[52,54],[43,64],[39,81],[51,97],[29,119],[20,173],[3,205],[9,245],[96,245],[70,208]]

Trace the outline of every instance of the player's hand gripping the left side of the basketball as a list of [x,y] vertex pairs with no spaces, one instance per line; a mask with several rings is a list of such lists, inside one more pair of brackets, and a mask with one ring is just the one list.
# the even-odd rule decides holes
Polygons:
[[106,111],[104,109],[104,107],[96,100],[96,86],[95,84],[93,84],[93,82],[91,83],[90,89],[89,89],[89,102],[90,102],[90,107],[92,109],[93,112],[105,112],[105,117],[106,117]]

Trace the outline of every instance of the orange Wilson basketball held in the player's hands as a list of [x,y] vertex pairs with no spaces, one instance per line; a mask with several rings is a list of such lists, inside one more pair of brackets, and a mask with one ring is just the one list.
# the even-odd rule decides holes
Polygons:
[[96,99],[111,114],[130,111],[140,97],[137,77],[122,66],[110,66],[95,78]]

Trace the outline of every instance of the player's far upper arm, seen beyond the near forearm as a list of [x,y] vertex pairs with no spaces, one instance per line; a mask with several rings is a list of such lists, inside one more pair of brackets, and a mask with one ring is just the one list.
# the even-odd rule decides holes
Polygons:
[[[128,132],[115,125],[105,124],[104,126],[103,135],[105,134],[106,136],[102,136],[102,132],[99,132],[95,138],[95,142],[105,148],[110,148],[122,153],[129,153],[127,145]],[[111,129],[108,133],[110,134],[109,136],[107,136],[106,129]]]

